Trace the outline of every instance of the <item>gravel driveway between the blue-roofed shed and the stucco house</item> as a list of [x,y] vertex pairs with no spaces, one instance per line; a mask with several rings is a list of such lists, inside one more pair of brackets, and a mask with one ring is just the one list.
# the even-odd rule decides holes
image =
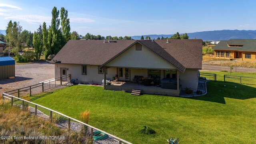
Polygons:
[[[48,62],[15,65],[15,78],[0,80],[0,93],[54,78],[54,64]],[[1,88],[2,87],[2,88]]]

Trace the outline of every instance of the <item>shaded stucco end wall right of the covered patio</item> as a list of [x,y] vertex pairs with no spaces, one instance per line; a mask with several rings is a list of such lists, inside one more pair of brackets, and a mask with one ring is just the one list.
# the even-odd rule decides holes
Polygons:
[[198,85],[198,70],[186,69],[184,73],[180,72],[180,84],[182,85],[182,90],[187,87],[196,91]]

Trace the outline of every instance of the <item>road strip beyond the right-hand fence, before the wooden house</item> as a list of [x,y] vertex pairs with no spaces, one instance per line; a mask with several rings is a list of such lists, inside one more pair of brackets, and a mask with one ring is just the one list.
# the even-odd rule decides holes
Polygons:
[[[209,70],[214,70],[214,71],[221,71],[221,70],[226,70],[228,71],[229,68],[227,66],[212,66],[209,64],[202,64],[202,70],[200,71],[209,71]],[[234,67],[232,70],[233,72],[256,72],[256,68],[241,68],[241,67]]]

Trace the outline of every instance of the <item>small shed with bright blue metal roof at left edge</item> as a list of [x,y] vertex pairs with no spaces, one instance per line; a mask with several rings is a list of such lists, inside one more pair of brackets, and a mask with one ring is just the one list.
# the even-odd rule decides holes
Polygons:
[[0,80],[15,76],[15,61],[10,56],[0,57]]

